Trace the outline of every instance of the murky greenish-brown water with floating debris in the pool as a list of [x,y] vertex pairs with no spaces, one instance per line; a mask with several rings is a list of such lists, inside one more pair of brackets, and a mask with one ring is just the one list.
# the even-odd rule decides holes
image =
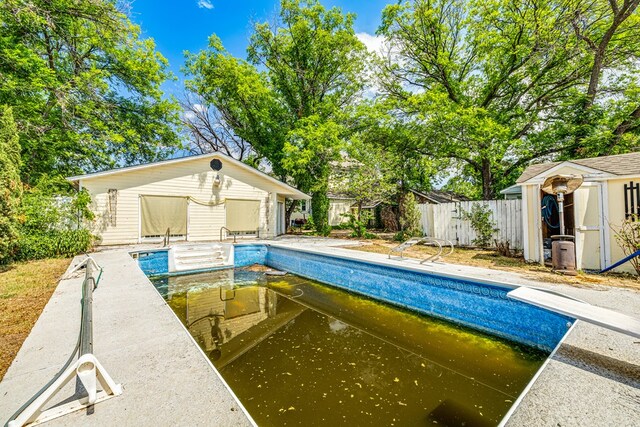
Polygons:
[[260,426],[496,425],[547,357],[291,274],[152,281]]

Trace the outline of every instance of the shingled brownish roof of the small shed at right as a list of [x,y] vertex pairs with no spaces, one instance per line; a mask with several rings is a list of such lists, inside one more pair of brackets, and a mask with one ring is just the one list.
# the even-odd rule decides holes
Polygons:
[[574,164],[596,169],[611,175],[635,175],[640,174],[640,152],[618,154],[615,156],[590,157],[587,159],[567,160],[566,162],[538,163],[529,166],[516,180],[518,184],[534,178],[549,169],[562,163]]

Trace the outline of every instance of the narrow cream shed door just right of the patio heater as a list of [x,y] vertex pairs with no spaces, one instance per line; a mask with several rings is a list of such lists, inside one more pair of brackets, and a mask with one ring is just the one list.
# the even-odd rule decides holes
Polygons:
[[602,209],[600,184],[586,184],[574,193],[576,264],[579,269],[602,268]]

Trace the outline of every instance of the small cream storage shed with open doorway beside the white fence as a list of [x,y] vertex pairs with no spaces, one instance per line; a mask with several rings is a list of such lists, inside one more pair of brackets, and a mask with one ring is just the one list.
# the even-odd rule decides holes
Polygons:
[[[580,175],[582,185],[565,197],[567,234],[575,239],[576,267],[601,270],[624,258],[615,238],[625,218],[640,215],[640,152],[529,166],[518,178],[522,187],[524,256],[544,262],[545,247],[557,234],[547,206],[544,181],[554,175]],[[552,200],[547,199],[549,203]],[[633,272],[629,263],[614,271]]]

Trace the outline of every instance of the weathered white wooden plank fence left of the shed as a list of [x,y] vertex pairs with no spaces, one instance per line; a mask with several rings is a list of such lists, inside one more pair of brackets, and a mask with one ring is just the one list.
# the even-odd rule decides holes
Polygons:
[[493,236],[494,239],[509,242],[512,249],[523,248],[522,200],[479,200],[418,205],[422,214],[424,234],[450,240],[456,246],[474,246],[476,233],[471,228],[471,222],[462,219],[462,211],[470,212],[474,204],[486,205],[491,210],[493,222],[498,229]]

